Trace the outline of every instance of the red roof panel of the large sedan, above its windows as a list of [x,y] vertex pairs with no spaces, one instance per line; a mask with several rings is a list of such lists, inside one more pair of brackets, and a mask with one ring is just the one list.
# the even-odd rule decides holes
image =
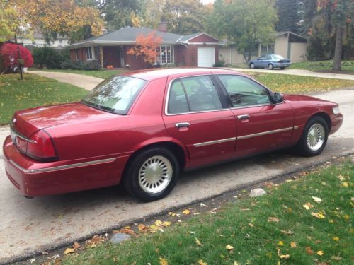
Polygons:
[[143,69],[137,71],[127,71],[125,73],[121,73],[120,76],[131,76],[135,78],[144,79],[147,81],[151,81],[154,79],[164,78],[166,76],[189,76],[198,75],[198,74],[218,74],[218,73],[230,73],[230,74],[239,74],[237,71],[233,71],[230,69],[215,69],[215,68],[167,68],[167,69]]

